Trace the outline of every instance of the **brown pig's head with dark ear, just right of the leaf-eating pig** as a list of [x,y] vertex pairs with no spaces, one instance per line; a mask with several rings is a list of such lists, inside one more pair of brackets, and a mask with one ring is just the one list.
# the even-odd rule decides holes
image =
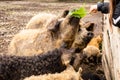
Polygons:
[[75,48],[77,52],[81,52],[81,50],[83,50],[93,38],[93,28],[94,23],[80,25],[78,31],[76,32],[75,40],[72,43],[72,48]]

